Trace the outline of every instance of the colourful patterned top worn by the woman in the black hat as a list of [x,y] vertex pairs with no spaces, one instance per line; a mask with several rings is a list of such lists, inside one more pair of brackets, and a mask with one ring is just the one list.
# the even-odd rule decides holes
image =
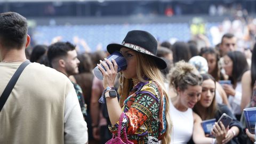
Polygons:
[[[127,138],[133,143],[159,143],[166,131],[165,98],[156,82],[140,82],[123,103],[125,113],[122,127],[126,126]],[[109,126],[112,133],[117,122]]]

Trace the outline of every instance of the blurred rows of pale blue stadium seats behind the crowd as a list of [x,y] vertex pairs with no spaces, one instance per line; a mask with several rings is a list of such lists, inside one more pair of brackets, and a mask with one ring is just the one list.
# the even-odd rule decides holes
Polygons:
[[[218,23],[207,23],[206,29]],[[51,44],[54,37],[61,36],[61,41],[76,43],[74,37],[84,39],[91,51],[95,51],[98,44],[106,50],[109,43],[122,43],[128,31],[139,29],[153,34],[159,42],[177,38],[187,42],[190,38],[188,23],[153,23],[126,25],[75,25],[75,26],[37,26],[33,38],[37,44]],[[210,35],[207,35],[210,37]],[[76,43],[81,51],[85,51],[81,43]]]

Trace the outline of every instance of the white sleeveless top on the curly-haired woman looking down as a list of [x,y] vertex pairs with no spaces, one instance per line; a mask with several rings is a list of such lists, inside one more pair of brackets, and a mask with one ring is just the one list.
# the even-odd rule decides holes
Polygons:
[[173,123],[171,144],[187,143],[193,134],[194,118],[192,109],[179,111],[170,102],[170,114]]

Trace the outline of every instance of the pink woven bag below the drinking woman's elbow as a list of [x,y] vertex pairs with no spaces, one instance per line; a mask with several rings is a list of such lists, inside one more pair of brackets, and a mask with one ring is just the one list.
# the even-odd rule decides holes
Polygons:
[[133,142],[131,142],[127,139],[126,127],[124,127],[124,129],[123,129],[124,130],[124,141],[121,139],[121,129],[122,129],[123,118],[124,118],[124,112],[121,114],[120,119],[119,119],[117,137],[113,133],[112,139],[108,140],[105,144],[112,144],[112,143],[114,143],[114,144],[133,144]]

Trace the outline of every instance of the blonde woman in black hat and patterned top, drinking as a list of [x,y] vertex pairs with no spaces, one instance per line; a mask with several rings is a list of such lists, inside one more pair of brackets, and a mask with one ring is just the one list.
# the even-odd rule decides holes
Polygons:
[[161,73],[166,63],[156,57],[156,39],[147,31],[132,30],[122,44],[109,44],[107,50],[110,54],[119,51],[127,62],[126,69],[121,71],[119,102],[113,87],[118,68],[116,61],[105,59],[98,65],[103,74],[105,91],[102,95],[112,124],[110,131],[116,133],[120,125],[117,122],[124,114],[121,124],[127,127],[123,131],[127,133],[128,140],[133,143],[169,143],[169,101]]

